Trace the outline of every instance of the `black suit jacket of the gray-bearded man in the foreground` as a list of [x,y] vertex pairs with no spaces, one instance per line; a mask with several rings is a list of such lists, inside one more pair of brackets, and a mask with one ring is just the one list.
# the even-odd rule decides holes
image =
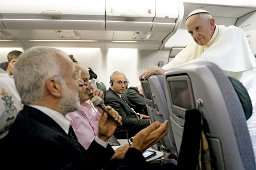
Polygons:
[[114,154],[95,141],[79,149],[52,118],[26,105],[0,147],[7,169],[102,169]]

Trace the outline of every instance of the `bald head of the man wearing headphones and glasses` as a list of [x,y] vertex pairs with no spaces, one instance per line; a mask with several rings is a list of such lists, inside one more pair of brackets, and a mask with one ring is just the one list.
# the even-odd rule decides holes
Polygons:
[[114,92],[124,94],[127,87],[127,79],[125,74],[123,74],[121,71],[115,71],[111,76],[111,80],[113,81],[113,85],[110,87],[112,87]]

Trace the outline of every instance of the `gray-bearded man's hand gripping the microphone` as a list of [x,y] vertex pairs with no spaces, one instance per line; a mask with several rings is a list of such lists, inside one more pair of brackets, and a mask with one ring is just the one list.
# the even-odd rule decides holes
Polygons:
[[[112,107],[107,106],[108,110],[111,111],[112,117],[115,121],[121,122],[122,117],[119,116],[117,111],[115,111]],[[109,138],[114,134],[115,129],[117,129],[117,123],[108,117],[108,114],[103,112],[100,108],[98,110],[101,112],[101,118],[98,122],[98,137],[105,142],[109,141]]]

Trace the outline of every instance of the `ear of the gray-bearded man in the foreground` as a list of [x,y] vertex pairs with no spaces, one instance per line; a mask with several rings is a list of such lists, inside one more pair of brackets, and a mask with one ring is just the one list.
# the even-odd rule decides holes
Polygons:
[[61,97],[62,86],[61,83],[53,78],[49,78],[46,80],[46,88],[48,92],[55,96]]

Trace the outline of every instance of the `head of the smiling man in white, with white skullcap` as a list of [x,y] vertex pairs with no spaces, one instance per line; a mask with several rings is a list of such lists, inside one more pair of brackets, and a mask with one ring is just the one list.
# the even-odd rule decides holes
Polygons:
[[196,44],[204,46],[213,36],[215,22],[209,14],[197,13],[187,18],[186,28]]

